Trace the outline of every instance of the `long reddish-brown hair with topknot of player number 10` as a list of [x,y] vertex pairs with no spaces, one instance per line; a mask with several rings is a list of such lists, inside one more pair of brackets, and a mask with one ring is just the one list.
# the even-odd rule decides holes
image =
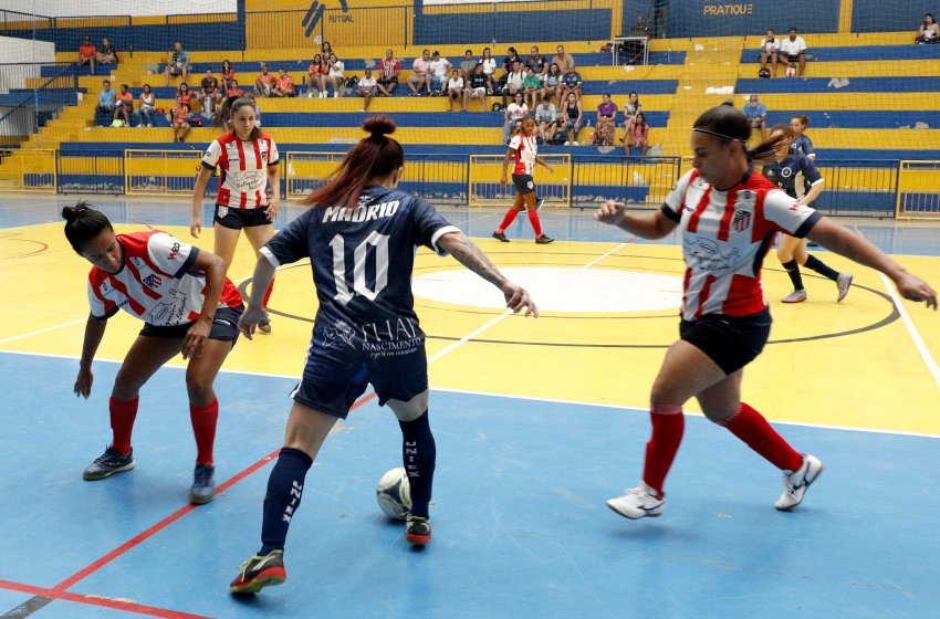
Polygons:
[[405,151],[394,138],[395,122],[388,116],[373,116],[363,123],[369,136],[359,140],[343,157],[340,167],[326,177],[327,185],[301,200],[303,204],[355,207],[367,185],[385,178],[405,165]]

